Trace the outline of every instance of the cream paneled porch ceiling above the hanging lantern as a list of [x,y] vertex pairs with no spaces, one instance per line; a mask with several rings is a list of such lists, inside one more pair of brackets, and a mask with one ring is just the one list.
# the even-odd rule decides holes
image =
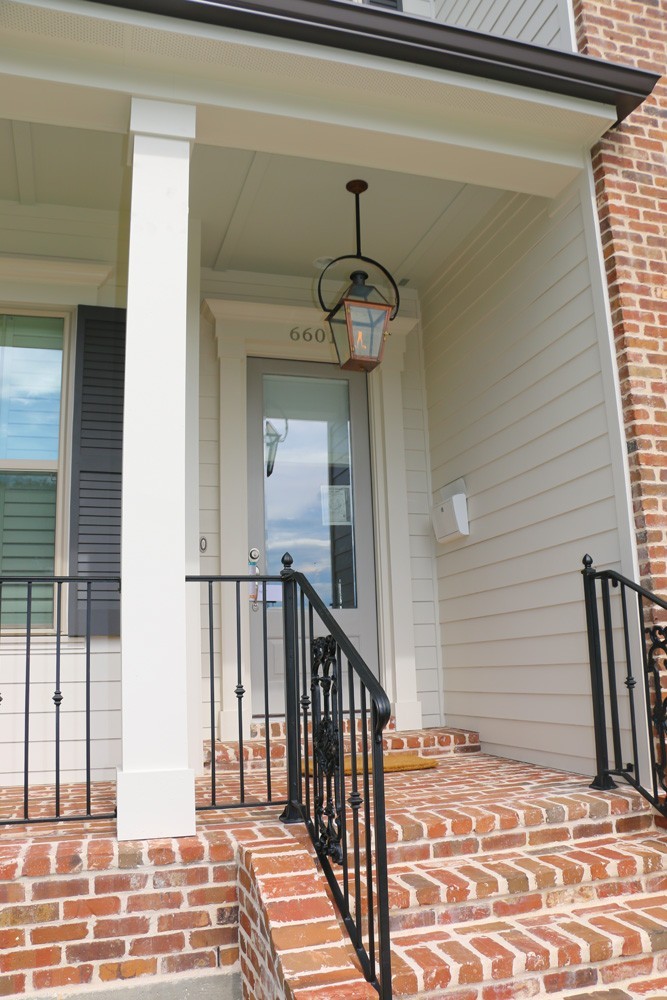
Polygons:
[[[364,250],[398,280],[423,286],[502,192],[377,168],[197,144],[191,211],[202,225],[202,267],[312,278],[314,261],[353,249],[353,201],[345,183],[363,176]],[[99,211],[129,211],[127,137],[0,120],[0,201],[19,228],[52,206],[80,225]],[[23,220],[23,223],[21,222]],[[0,252],[25,252],[0,236]],[[51,243],[30,250],[50,256]],[[83,251],[82,251],[83,253]],[[69,253],[67,256],[74,256]]]

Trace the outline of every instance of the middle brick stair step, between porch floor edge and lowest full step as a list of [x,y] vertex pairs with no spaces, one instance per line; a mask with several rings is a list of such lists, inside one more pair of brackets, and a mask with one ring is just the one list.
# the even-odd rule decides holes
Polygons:
[[595,838],[389,869],[395,931],[655,892],[667,892],[665,835]]

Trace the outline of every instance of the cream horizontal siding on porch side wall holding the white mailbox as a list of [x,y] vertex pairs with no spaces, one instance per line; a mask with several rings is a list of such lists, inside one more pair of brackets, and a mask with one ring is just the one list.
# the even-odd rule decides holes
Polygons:
[[581,559],[618,567],[621,546],[578,196],[550,215],[508,195],[422,316],[433,487],[469,496],[469,537],[438,556],[447,722],[590,773]]

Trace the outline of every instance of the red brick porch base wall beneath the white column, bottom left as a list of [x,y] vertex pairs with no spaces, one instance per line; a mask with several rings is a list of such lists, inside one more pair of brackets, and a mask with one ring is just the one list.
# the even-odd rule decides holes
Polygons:
[[0,844],[0,997],[233,966],[236,882],[223,831]]

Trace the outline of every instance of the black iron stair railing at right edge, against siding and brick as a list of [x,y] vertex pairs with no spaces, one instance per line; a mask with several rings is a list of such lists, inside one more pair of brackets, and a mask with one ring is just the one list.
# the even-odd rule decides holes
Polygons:
[[[584,556],[596,770],[593,788],[614,777],[667,815],[667,601]],[[623,692],[625,689],[625,693]]]

